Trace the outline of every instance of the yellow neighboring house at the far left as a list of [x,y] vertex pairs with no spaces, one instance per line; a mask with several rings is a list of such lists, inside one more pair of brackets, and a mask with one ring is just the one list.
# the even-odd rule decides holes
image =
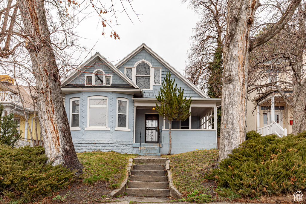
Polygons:
[[30,130],[32,130],[33,139],[36,138],[34,107],[37,118],[37,136],[38,139],[40,139],[40,125],[36,106],[37,93],[33,86],[28,87],[19,85],[18,87],[15,85],[14,79],[8,75],[0,75],[0,103],[5,107],[3,114],[14,113],[14,119],[18,121],[20,130],[22,130],[22,139],[31,143]]

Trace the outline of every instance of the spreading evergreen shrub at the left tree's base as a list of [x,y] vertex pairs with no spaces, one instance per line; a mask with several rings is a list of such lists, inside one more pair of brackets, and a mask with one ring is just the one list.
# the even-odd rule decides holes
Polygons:
[[43,147],[0,145],[0,195],[31,202],[70,183],[73,172],[46,161]]

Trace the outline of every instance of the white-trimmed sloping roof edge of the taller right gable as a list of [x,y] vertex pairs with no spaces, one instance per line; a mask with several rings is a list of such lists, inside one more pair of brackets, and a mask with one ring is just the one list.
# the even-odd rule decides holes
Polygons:
[[146,50],[153,57],[155,57],[160,63],[162,63],[167,69],[169,69],[172,73],[174,73],[179,79],[185,82],[193,91],[199,94],[203,98],[210,98],[203,91],[201,91],[198,87],[196,87],[193,83],[191,83],[185,76],[183,76],[180,72],[174,69],[168,62],[166,62],[162,57],[156,54],[151,48],[149,48],[146,44],[142,43],[139,47],[137,47],[134,51],[132,51],[129,55],[123,58],[120,62],[118,62],[115,66],[117,68],[121,67],[125,62],[131,59],[134,55],[140,52],[142,49]]

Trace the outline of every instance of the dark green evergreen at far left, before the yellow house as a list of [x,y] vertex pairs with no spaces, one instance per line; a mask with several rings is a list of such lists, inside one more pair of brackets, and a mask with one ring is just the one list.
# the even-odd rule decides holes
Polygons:
[[4,107],[0,104],[0,144],[14,146],[16,141],[21,138],[22,131],[18,132],[19,125],[14,121],[14,114],[2,116]]

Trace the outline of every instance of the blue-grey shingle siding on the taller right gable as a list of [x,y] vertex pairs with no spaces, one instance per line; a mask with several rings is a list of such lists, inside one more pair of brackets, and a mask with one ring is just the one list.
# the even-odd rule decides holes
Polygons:
[[[118,69],[124,73],[124,67],[132,67],[135,65],[135,63],[139,60],[147,60],[149,61],[153,67],[162,67],[162,81],[164,81],[164,78],[166,78],[167,72],[170,72],[169,69],[167,69],[162,63],[160,63],[155,57],[153,57],[150,53],[148,53],[146,50],[141,50],[138,52],[135,56],[133,56],[129,61],[127,61],[125,64],[123,64]],[[178,87],[181,87],[184,89],[184,95],[187,97],[192,98],[202,98],[199,94],[196,93],[191,87],[189,87],[185,82],[180,80],[177,76],[174,75],[174,73],[170,72],[171,78],[175,79],[175,83],[177,83]],[[158,91],[160,90],[160,87],[162,86],[154,86],[153,90],[144,90],[144,97],[145,98],[155,98],[155,95],[158,95]]]

